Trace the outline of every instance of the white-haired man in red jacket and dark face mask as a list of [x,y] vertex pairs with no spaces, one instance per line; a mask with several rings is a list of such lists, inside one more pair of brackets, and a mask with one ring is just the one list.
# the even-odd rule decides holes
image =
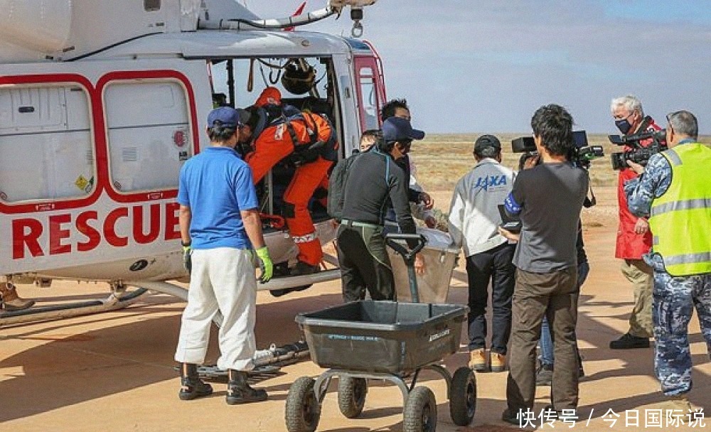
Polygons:
[[[626,136],[661,130],[651,117],[644,115],[642,102],[636,96],[612,99],[611,110],[617,129]],[[652,140],[648,139],[639,144],[644,147],[651,143]],[[624,151],[632,150],[629,146],[624,148]],[[621,338],[610,342],[612,350],[648,348],[649,338],[653,336],[652,269],[642,259],[642,255],[652,247],[652,234],[646,217],[636,217],[629,211],[623,190],[624,183],[636,176],[633,170],[622,168],[617,182],[619,227],[615,257],[624,260],[622,274],[634,286],[634,307],[629,317],[629,330]]]

